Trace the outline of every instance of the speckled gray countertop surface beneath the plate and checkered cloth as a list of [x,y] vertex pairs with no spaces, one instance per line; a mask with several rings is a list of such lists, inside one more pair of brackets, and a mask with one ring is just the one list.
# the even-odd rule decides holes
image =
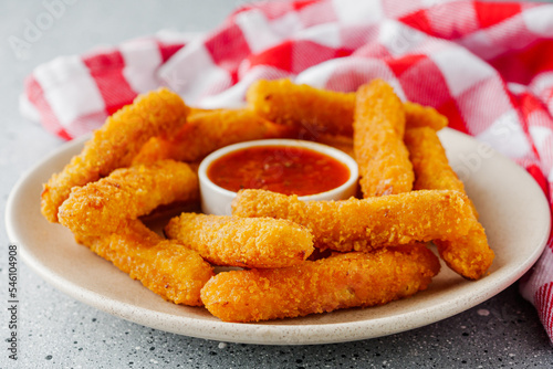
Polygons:
[[[42,1],[0,2],[0,208],[32,165],[61,139],[18,112],[22,82],[34,66],[97,44],[160,29],[206,31],[240,0],[74,1],[18,60],[7,40],[20,35]],[[551,368],[553,350],[517,284],[462,314],[387,337],[322,346],[254,346],[210,341],[133,324],[84,305],[19,264],[19,360],[8,359],[8,240],[0,232],[1,368]]]

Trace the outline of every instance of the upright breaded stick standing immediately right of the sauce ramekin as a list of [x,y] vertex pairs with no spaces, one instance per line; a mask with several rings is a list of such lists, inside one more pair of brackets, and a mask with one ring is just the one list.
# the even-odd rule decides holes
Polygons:
[[390,85],[374,80],[357,89],[353,128],[363,197],[410,191],[415,175],[404,144],[405,112]]

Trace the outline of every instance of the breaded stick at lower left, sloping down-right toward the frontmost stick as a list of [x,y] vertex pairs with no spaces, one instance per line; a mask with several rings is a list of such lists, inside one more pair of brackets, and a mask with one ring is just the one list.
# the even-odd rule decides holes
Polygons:
[[77,242],[175,304],[201,306],[200,289],[213,276],[208,262],[178,241],[165,240],[139,220],[116,233],[79,235]]

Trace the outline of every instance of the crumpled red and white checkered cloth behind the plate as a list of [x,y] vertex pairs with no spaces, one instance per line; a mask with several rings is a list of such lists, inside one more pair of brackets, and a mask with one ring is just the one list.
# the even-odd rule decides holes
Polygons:
[[[551,198],[553,4],[305,0],[246,6],[207,35],[159,33],[64,56],[29,76],[22,106],[66,139],[160,85],[234,107],[258,78],[354,91],[374,77],[509,156]],[[553,244],[520,283],[553,338]]]

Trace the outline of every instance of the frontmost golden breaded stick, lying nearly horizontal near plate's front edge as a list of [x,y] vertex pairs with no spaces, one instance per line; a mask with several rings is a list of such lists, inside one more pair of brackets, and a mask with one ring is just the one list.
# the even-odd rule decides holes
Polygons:
[[353,252],[285,268],[219,273],[201,289],[201,301],[225,321],[291,318],[411,296],[439,268],[421,245]]

